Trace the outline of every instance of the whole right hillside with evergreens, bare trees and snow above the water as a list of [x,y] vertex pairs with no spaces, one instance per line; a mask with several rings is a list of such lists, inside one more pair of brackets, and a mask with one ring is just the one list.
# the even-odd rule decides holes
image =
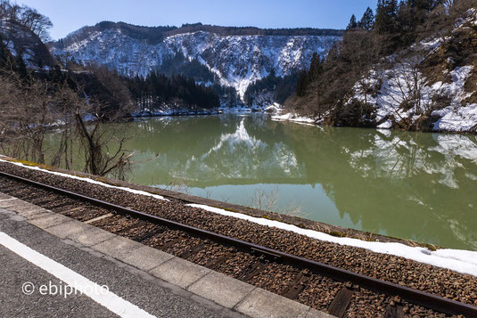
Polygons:
[[473,0],[379,0],[300,73],[287,110],[334,126],[475,132],[476,13]]

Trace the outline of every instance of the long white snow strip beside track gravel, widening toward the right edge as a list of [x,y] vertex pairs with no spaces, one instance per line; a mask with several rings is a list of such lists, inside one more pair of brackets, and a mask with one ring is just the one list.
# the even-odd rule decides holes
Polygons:
[[241,213],[226,211],[222,208],[213,208],[201,204],[187,204],[189,207],[201,208],[206,211],[217,213],[221,216],[232,216],[255,224],[275,227],[285,231],[295,232],[319,241],[329,241],[335,244],[352,246],[360,249],[368,249],[375,253],[390,254],[397,257],[405,257],[416,262],[448,268],[458,273],[468,273],[477,276],[477,252],[461,249],[438,249],[432,251],[426,248],[410,247],[402,243],[361,241],[358,239],[335,237],[324,232],[302,229],[292,224],[268,220],[266,218],[247,216]]

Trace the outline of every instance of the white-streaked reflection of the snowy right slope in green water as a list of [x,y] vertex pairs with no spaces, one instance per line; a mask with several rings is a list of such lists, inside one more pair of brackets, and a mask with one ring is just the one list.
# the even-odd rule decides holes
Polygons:
[[[386,132],[389,133],[389,132]],[[404,179],[426,173],[438,176],[440,184],[458,189],[456,170],[473,169],[477,163],[477,143],[466,135],[433,135],[436,145],[425,147],[410,135],[374,135],[374,144],[366,150],[350,153],[350,165],[363,177]],[[465,179],[477,176],[466,173]],[[461,180],[462,181],[462,180]]]

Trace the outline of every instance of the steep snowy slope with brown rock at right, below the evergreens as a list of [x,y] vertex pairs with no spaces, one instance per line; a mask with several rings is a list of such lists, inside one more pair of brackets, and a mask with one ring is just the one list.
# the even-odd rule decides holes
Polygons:
[[[387,58],[354,86],[353,102],[374,107],[379,128],[477,131],[477,9],[450,34]],[[366,92],[374,91],[372,94]]]

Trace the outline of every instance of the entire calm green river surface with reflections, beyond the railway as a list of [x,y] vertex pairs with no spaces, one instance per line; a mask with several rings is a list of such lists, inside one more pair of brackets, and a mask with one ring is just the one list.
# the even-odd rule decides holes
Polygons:
[[151,159],[133,167],[131,182],[477,250],[475,135],[321,128],[261,114],[115,125],[133,136],[126,149],[136,161]]

